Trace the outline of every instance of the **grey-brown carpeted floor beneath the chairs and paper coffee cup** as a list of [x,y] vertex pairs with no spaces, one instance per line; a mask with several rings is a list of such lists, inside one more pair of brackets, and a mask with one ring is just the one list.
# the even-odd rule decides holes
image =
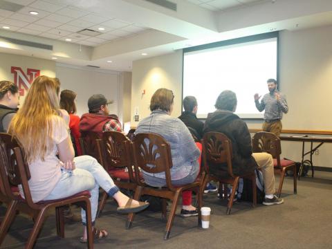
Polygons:
[[[277,183],[279,179],[276,179]],[[94,248],[332,248],[332,173],[315,172],[315,178],[298,181],[293,195],[293,180],[286,178],[282,197],[285,203],[252,208],[241,202],[226,215],[226,202],[216,194],[204,196],[204,205],[212,208],[210,228],[197,226],[196,217],[176,215],[169,240],[163,240],[165,223],[159,212],[145,211],[136,216],[131,230],[125,230],[127,216],[116,214],[109,199],[97,226],[107,229],[109,237]],[[180,211],[180,206],[178,207]],[[3,216],[6,208],[0,208]],[[17,216],[1,248],[24,248],[33,222]],[[66,238],[56,236],[55,216],[48,218],[35,248],[86,248],[79,242],[80,223],[66,225]]]

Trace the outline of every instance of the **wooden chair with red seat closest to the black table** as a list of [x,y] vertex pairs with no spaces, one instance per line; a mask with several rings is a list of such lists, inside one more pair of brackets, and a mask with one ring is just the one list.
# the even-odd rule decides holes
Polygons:
[[[252,149],[254,152],[267,152],[273,156],[273,164],[275,167],[275,173],[280,174],[279,187],[277,190],[277,196],[282,194],[282,185],[288,169],[293,168],[293,172],[296,172],[295,162],[292,160],[280,159],[282,154],[282,145],[280,138],[270,132],[257,132],[252,137]],[[293,174],[294,179],[294,194],[297,194],[297,175]]]

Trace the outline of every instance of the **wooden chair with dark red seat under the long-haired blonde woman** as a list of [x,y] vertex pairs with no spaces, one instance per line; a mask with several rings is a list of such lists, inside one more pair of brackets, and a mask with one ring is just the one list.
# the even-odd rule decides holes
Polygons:
[[[64,216],[61,208],[64,205],[76,203],[86,210],[86,228],[88,232],[88,248],[93,248],[91,204],[89,201],[89,191],[77,193],[64,199],[52,201],[39,201],[34,203],[30,194],[28,180],[30,171],[28,164],[24,160],[24,151],[15,138],[8,133],[0,133],[0,177],[2,181],[1,194],[9,200],[6,215],[0,226],[0,245],[6,236],[17,211],[33,216],[35,225],[30,232],[25,248],[33,248],[42,224],[46,219],[49,210],[55,208],[57,221],[57,235],[64,237]],[[12,185],[21,185],[25,199],[20,195],[13,194]],[[78,241],[77,241],[78,243]]]

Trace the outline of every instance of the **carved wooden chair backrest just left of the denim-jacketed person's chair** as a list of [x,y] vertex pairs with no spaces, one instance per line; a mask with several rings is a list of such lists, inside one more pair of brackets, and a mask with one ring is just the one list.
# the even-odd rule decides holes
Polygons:
[[131,141],[119,131],[104,131],[100,143],[100,158],[105,169],[127,167],[129,178],[134,181],[131,160]]

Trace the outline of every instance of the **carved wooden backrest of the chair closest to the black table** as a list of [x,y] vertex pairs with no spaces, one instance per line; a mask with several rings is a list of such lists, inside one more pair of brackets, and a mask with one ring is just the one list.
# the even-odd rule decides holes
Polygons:
[[255,133],[252,137],[252,150],[255,153],[266,152],[271,154],[273,158],[277,159],[278,165],[280,165],[282,146],[280,138],[275,136],[275,134],[266,131]]

